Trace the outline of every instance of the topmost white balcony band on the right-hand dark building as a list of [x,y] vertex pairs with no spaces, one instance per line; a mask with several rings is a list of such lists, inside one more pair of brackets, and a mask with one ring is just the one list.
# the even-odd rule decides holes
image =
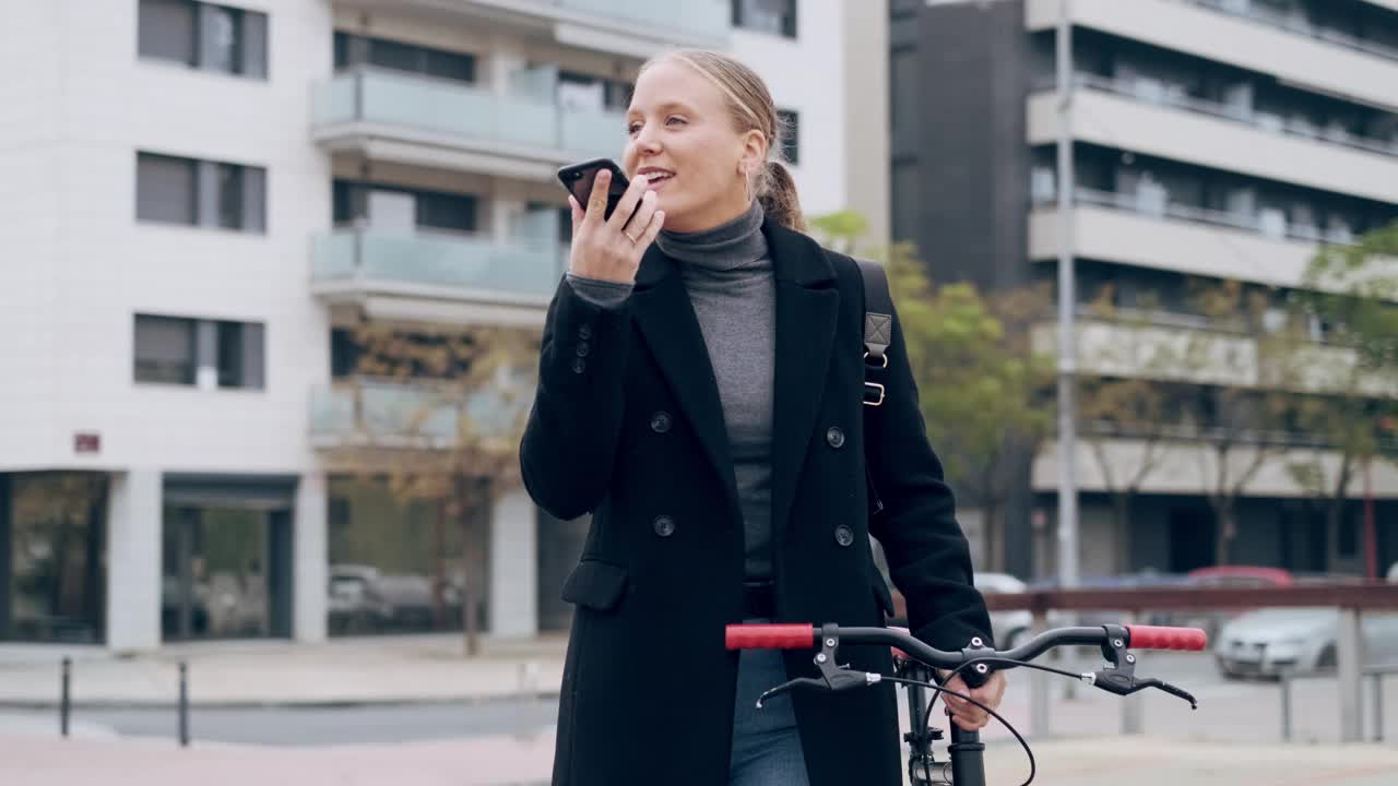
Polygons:
[[[1028,0],[1025,27],[1053,29],[1062,0]],[[1283,24],[1251,6],[1222,0],[1072,0],[1078,27],[1274,74],[1303,90],[1398,110],[1398,52],[1374,42]]]

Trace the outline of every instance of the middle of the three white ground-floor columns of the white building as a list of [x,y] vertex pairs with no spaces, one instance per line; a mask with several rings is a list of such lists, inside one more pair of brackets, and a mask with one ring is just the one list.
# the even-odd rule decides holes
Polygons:
[[292,638],[326,641],[330,604],[330,538],[324,473],[306,473],[296,484],[292,516]]

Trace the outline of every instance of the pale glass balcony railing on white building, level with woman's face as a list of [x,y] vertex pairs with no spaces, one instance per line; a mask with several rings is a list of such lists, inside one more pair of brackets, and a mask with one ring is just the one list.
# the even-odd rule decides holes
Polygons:
[[461,137],[463,145],[544,148],[551,161],[619,158],[626,117],[379,69],[337,74],[316,87],[315,123],[382,123]]

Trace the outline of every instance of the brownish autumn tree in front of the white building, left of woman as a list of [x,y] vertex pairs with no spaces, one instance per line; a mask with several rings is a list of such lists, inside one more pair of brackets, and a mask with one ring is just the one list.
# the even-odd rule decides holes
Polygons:
[[[538,357],[537,338],[503,329],[407,330],[365,322],[354,330],[355,424],[333,466],[382,481],[401,502],[436,508],[433,601],[461,597],[466,653],[480,652],[480,607],[487,589],[489,516],[519,483],[517,448],[528,373],[514,358]],[[460,586],[447,580],[445,527],[461,534]]]

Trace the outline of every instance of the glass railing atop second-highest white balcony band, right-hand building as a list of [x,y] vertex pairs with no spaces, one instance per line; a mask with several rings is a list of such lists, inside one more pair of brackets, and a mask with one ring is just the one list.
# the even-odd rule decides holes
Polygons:
[[[1110,78],[1097,74],[1075,74],[1074,84],[1083,90],[1095,90],[1130,98],[1141,103],[1155,106],[1170,106],[1195,115],[1206,115],[1218,120],[1227,120],[1250,126],[1269,134],[1296,137],[1323,144],[1335,144],[1364,152],[1377,152],[1398,158],[1398,136],[1390,140],[1364,137],[1348,131],[1338,126],[1317,126],[1295,117],[1281,117],[1268,112],[1258,112],[1251,106],[1229,106],[1186,94],[1173,85],[1153,80]],[[1039,91],[1054,90],[1053,77],[1044,77],[1035,84]]]

